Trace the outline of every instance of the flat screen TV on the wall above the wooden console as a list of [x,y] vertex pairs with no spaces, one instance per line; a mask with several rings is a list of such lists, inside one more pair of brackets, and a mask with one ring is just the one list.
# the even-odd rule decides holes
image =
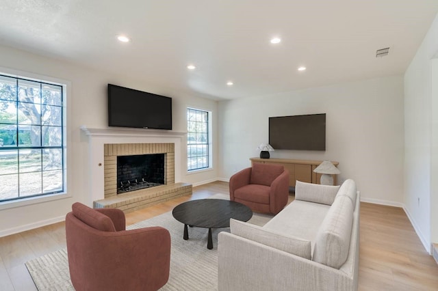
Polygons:
[[326,150],[326,114],[269,117],[275,150]]

